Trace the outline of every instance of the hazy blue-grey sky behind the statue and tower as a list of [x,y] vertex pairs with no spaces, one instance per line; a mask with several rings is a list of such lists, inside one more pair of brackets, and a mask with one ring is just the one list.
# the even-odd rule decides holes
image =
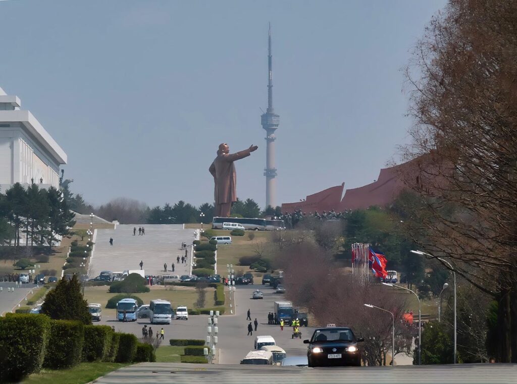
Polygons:
[[0,2],[0,86],[67,152],[100,204],[213,201],[221,142],[258,145],[237,192],[265,204],[267,25],[278,203],[355,188],[408,140],[409,51],[445,0]]

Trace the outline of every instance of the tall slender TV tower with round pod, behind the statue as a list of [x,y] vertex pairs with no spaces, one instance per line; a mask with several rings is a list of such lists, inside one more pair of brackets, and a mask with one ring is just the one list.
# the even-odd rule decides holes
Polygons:
[[269,23],[268,34],[268,82],[267,82],[267,110],[262,114],[262,128],[266,130],[266,168],[264,168],[264,176],[266,176],[266,208],[277,206],[277,168],[275,168],[275,131],[280,123],[280,116],[273,111],[273,68],[271,55],[271,23]]

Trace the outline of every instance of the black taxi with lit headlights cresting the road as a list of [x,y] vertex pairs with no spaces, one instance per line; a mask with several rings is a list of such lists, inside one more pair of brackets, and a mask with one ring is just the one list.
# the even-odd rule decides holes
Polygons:
[[361,353],[357,339],[350,328],[318,328],[311,340],[303,340],[309,344],[307,358],[309,366],[345,366],[361,365]]

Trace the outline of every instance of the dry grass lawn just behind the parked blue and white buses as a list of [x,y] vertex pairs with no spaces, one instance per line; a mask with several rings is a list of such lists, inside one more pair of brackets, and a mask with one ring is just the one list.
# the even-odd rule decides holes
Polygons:
[[[187,305],[188,308],[194,308],[193,304],[197,300],[194,287],[154,285],[150,288],[150,292],[132,295],[140,297],[144,301],[144,304],[148,304],[153,299],[168,300],[172,303],[173,308],[176,308],[178,305]],[[104,308],[110,298],[118,295],[109,293],[108,289],[108,286],[85,287],[84,298],[88,300],[88,303],[100,303],[102,304],[102,308]],[[206,289],[205,306],[214,306],[214,291],[214,288]]]

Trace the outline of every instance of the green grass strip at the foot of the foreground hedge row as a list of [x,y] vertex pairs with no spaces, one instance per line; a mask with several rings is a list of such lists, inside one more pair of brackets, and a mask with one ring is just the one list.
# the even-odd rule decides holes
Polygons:
[[129,364],[81,363],[66,370],[42,370],[40,373],[30,375],[22,382],[26,384],[84,384],[126,365]]

